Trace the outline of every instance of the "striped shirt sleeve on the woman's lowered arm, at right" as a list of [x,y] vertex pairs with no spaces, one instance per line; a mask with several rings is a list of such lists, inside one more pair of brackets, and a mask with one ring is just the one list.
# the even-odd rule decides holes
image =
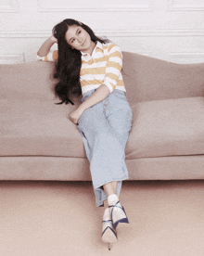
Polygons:
[[121,75],[122,54],[118,45],[109,45],[108,61],[104,83],[108,86],[110,93],[115,89]]

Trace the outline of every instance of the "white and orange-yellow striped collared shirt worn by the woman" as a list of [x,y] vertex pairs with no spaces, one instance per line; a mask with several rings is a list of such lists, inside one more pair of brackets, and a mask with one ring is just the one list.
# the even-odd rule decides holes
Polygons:
[[[81,53],[80,81],[83,94],[98,88],[102,83],[108,86],[110,93],[114,89],[125,92],[121,75],[122,54],[119,46],[97,42],[92,56]],[[44,58],[38,58],[45,61],[57,61],[57,51],[50,52]]]

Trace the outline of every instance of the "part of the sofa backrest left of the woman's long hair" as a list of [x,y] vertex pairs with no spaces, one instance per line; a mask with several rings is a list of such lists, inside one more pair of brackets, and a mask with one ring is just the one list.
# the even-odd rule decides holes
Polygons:
[[1,97],[7,100],[54,99],[52,70],[54,63],[34,61],[30,63],[1,65]]

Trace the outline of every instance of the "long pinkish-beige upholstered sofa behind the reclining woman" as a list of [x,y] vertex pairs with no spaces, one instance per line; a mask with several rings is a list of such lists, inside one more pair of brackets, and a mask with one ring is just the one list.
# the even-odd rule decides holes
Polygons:
[[[130,180],[204,178],[204,63],[123,52],[134,111],[126,146]],[[1,65],[0,180],[89,181],[75,106],[55,105],[54,63]]]

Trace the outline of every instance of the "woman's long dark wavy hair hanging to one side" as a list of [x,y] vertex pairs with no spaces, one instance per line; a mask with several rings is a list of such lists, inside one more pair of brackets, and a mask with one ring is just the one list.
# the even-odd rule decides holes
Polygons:
[[82,54],[79,50],[72,49],[65,39],[65,33],[69,26],[77,25],[89,33],[93,42],[99,41],[104,44],[108,40],[102,40],[85,24],[75,19],[64,19],[53,28],[53,35],[57,38],[58,58],[54,71],[54,78],[58,80],[55,85],[55,95],[61,102],[57,104],[72,104],[70,95],[81,96],[80,70],[82,66]]

